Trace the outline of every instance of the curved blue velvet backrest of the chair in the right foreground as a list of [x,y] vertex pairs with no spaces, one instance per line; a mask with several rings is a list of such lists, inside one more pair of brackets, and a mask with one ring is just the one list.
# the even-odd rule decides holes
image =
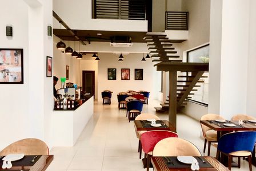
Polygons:
[[231,132],[219,138],[217,149],[227,154],[243,150],[253,152],[255,142],[256,131]]

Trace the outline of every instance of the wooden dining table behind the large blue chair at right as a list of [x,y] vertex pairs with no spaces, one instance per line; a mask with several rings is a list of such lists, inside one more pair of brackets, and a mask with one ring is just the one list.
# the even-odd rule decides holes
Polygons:
[[[238,121],[233,120],[226,120],[225,123],[220,123],[215,120],[201,120],[201,124],[206,125],[206,127],[209,127],[215,131],[217,131],[217,141],[219,138],[228,132],[233,131],[256,131],[256,123],[253,123],[248,120],[243,120],[242,124],[238,124]],[[225,124],[235,124],[235,127],[227,127]],[[255,157],[255,147],[254,151],[251,156],[251,163],[256,166],[256,157]]]

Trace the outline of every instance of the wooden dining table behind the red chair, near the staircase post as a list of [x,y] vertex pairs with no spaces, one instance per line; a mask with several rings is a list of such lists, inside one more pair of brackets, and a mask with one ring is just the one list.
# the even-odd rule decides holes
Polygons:
[[161,127],[153,127],[151,122],[147,120],[134,120],[137,131],[166,130],[176,132],[176,128],[167,120],[157,120],[155,122],[161,124]]

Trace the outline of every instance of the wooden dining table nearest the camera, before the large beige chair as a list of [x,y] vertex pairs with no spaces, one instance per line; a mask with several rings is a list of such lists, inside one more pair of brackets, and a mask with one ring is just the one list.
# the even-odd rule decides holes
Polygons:
[[[171,161],[169,163],[167,159]],[[218,170],[218,171],[227,171],[229,170],[224,165],[221,164],[216,158],[205,156],[205,157],[195,157],[199,164],[199,170]],[[153,165],[154,171],[185,171],[191,170],[191,164],[183,164],[177,160],[177,157],[151,157],[151,163]]]

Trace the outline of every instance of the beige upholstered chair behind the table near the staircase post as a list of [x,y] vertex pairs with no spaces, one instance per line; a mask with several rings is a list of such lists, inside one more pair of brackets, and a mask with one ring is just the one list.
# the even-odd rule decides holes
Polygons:
[[[160,120],[158,116],[155,116],[155,115],[150,114],[150,113],[141,113],[140,115],[135,117],[135,120],[147,120],[147,119]],[[135,128],[136,136],[139,139],[138,152],[139,152],[139,159],[141,159],[141,153],[142,153],[142,149],[141,149],[141,135],[142,135],[142,133],[144,133],[146,131],[137,131],[135,125],[134,125],[134,128]]]

